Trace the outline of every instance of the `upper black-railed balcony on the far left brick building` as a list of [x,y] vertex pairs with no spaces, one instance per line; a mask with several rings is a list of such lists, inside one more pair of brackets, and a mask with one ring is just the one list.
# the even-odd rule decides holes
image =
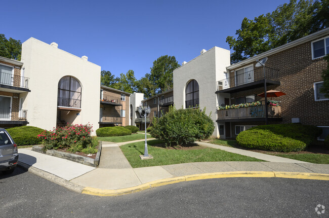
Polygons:
[[30,92],[28,89],[29,78],[0,72],[0,91],[23,93]]

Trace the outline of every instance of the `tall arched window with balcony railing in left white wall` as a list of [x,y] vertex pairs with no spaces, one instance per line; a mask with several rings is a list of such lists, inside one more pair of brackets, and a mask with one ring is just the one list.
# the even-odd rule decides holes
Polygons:
[[81,108],[81,85],[75,78],[65,76],[59,81],[57,105]]

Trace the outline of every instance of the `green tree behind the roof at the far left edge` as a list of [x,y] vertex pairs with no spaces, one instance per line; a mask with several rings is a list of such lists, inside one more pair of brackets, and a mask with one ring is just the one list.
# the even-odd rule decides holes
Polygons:
[[22,43],[20,40],[5,37],[5,34],[0,34],[0,56],[21,60]]

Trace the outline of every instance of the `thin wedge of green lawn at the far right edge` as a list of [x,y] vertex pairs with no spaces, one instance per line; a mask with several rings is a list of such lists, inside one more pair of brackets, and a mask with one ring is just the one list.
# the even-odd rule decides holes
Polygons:
[[329,155],[326,154],[276,154],[275,156],[309,163],[329,164]]

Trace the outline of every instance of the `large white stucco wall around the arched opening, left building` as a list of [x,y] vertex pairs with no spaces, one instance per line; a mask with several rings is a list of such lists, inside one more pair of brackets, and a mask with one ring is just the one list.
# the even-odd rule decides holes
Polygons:
[[72,76],[81,84],[81,111],[69,112],[67,122],[90,122],[95,135],[99,128],[101,67],[34,38],[22,44],[22,62],[25,77],[30,78],[31,92],[23,104],[23,109],[28,110],[29,125],[47,130],[56,126],[58,82],[64,76]]

